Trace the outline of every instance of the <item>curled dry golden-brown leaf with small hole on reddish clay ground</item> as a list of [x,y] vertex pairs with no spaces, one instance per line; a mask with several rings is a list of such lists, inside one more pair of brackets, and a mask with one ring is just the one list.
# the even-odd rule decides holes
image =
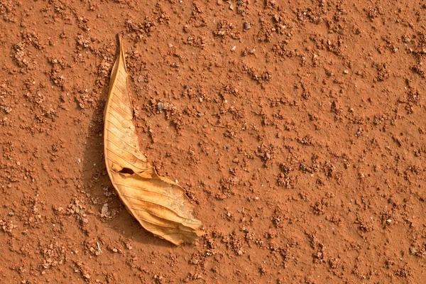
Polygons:
[[158,176],[139,150],[121,36],[119,45],[104,117],[109,178],[126,208],[143,228],[176,245],[196,243],[202,234],[202,223],[195,218],[185,190],[168,178]]

